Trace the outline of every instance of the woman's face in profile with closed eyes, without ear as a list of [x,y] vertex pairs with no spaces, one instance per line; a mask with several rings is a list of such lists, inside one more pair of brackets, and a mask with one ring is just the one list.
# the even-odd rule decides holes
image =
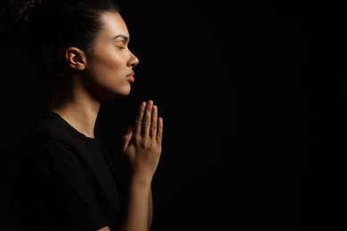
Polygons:
[[103,27],[86,61],[87,87],[98,100],[121,98],[130,93],[133,67],[139,60],[129,51],[129,32],[117,12],[101,16]]

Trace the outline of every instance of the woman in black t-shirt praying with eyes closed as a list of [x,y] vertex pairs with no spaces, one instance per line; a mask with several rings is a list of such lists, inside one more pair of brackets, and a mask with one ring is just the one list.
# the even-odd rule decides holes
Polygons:
[[[3,32],[40,63],[49,108],[20,148],[15,169],[18,230],[149,230],[151,180],[163,119],[152,100],[138,108],[122,140],[126,182],[94,132],[104,100],[131,92],[129,32],[112,0],[11,1]],[[9,23],[11,21],[11,23]],[[3,34],[4,35],[4,34]],[[3,36],[4,37],[4,36]]]

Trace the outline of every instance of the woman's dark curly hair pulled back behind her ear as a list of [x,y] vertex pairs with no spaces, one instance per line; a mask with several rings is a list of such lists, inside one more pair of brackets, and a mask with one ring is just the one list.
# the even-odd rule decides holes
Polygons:
[[44,80],[56,84],[67,48],[91,55],[103,12],[120,9],[115,0],[8,0],[0,8],[0,43],[19,45],[37,60]]

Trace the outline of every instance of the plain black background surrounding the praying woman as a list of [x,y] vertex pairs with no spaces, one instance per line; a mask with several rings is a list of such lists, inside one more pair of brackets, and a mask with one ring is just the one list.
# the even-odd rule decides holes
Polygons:
[[[322,55],[331,8],[239,2],[120,1],[140,65],[131,95],[101,107],[97,130],[116,154],[140,102],[157,104],[165,130],[153,231],[313,230],[341,218],[341,170],[329,157],[345,153],[346,84],[327,75],[334,57]],[[45,105],[18,53],[1,55],[5,214],[12,153]]]

